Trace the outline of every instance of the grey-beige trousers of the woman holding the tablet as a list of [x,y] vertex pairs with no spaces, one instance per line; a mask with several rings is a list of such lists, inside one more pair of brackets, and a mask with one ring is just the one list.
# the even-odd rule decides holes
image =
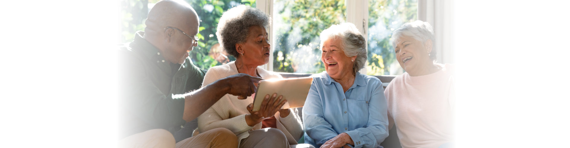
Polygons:
[[[200,134],[198,134],[200,135]],[[315,148],[309,144],[289,145],[283,131],[275,128],[250,130],[249,136],[242,139],[240,148],[283,147],[283,148]]]

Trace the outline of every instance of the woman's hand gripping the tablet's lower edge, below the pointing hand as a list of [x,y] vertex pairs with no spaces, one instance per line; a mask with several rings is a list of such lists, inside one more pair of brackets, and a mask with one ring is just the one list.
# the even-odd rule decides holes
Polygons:
[[251,120],[255,121],[256,124],[259,122],[266,120],[267,118],[271,118],[275,116],[275,113],[283,107],[287,100],[283,100],[283,96],[277,97],[277,94],[274,93],[271,98],[269,94],[266,94],[263,98],[263,102],[261,102],[261,106],[257,112],[253,112],[253,103],[247,106],[247,110],[250,112]]

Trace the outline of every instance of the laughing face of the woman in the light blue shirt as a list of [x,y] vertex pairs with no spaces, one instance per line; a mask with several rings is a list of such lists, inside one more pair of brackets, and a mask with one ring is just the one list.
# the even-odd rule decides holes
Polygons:
[[321,51],[321,61],[324,63],[324,69],[332,79],[341,79],[344,77],[355,75],[353,72],[356,56],[348,57],[341,49],[341,39],[329,38],[323,42]]

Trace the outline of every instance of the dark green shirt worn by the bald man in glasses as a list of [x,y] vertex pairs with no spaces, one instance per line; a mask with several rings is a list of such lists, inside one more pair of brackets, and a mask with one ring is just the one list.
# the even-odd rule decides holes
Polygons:
[[135,34],[135,40],[119,50],[119,138],[150,129],[174,133],[186,122],[184,96],[199,89],[205,71],[186,58],[173,64],[156,47]]

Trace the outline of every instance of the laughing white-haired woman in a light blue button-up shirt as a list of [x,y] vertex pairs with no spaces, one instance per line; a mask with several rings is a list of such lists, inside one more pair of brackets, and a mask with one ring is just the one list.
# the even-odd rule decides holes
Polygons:
[[367,59],[366,40],[352,23],[320,35],[326,72],[313,75],[303,106],[305,142],[315,147],[381,147],[388,137],[382,82],[358,71]]

